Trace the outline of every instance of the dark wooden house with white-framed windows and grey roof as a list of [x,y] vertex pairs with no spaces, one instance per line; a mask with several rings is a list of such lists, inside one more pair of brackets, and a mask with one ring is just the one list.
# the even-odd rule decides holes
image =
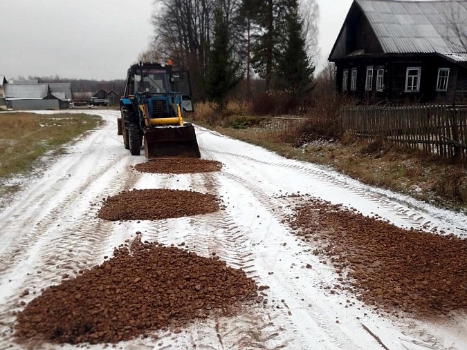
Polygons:
[[334,43],[336,88],[363,103],[467,104],[467,0],[354,0]]

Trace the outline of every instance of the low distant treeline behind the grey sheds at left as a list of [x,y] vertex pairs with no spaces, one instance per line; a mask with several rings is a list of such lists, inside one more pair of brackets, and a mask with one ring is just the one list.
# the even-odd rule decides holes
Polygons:
[[[24,79],[24,77],[19,77],[19,79]],[[110,90],[115,90],[118,95],[123,94],[125,90],[125,80],[124,79],[114,79],[114,80],[94,80],[94,79],[66,79],[61,78],[57,75],[51,77],[33,77],[29,76],[28,79],[37,79],[39,83],[71,83],[71,91],[73,93],[89,93],[97,92],[100,89],[104,89],[107,92]]]

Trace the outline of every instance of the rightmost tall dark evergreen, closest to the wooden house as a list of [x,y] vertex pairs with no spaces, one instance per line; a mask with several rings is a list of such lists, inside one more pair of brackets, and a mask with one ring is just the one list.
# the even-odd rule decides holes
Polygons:
[[303,21],[300,19],[297,0],[289,0],[286,44],[277,65],[277,87],[290,89],[295,96],[303,95],[310,88],[315,67],[306,53]]

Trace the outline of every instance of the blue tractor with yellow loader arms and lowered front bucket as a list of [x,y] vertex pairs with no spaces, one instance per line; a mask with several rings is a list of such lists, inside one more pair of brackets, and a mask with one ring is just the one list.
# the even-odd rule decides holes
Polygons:
[[131,66],[125,93],[120,99],[118,135],[131,155],[145,157],[201,157],[194,126],[185,123],[182,113],[192,112],[188,73],[172,70],[167,64]]

